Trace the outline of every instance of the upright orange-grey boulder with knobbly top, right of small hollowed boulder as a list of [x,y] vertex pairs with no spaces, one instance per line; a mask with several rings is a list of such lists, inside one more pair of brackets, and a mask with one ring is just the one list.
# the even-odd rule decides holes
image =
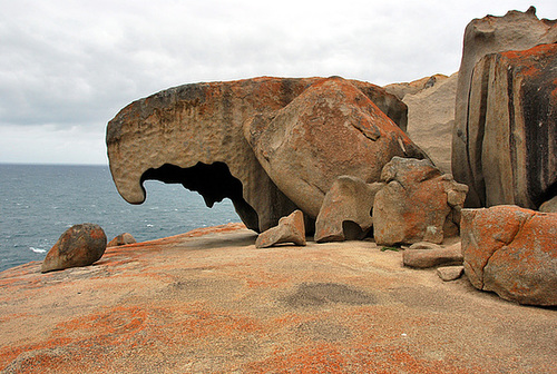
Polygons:
[[467,186],[428,160],[394,157],[381,174],[375,195],[373,235],[379,245],[441,243],[458,234]]

